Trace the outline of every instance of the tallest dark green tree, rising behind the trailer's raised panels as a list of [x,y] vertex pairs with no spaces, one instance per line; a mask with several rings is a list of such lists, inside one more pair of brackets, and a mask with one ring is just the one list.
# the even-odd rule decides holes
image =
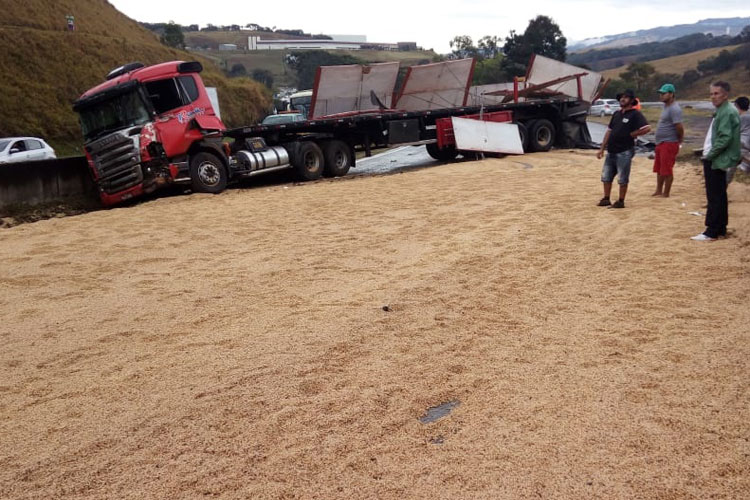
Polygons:
[[508,75],[523,75],[532,54],[565,61],[567,43],[552,18],[537,16],[529,21],[523,34],[511,31],[505,38],[503,68]]

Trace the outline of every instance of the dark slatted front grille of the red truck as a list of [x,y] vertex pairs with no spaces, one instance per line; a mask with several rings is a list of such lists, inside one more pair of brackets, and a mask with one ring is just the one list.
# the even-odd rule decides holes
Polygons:
[[143,181],[140,155],[133,137],[114,133],[88,146],[99,174],[99,186],[117,193]]

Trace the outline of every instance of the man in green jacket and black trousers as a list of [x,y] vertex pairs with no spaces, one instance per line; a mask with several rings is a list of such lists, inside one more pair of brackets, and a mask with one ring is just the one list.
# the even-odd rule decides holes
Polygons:
[[711,104],[716,108],[703,143],[703,176],[706,179],[706,230],[693,236],[695,241],[716,241],[726,236],[727,169],[740,161],[740,115],[729,105],[730,86],[718,81],[711,85]]

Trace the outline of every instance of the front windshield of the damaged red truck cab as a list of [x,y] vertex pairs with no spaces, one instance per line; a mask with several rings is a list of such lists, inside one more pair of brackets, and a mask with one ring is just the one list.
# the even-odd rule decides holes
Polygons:
[[127,92],[79,110],[86,140],[150,120],[148,109],[137,91]]

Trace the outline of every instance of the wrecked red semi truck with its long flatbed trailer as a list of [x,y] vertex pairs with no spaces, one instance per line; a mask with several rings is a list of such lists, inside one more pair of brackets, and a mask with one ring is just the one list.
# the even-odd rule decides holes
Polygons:
[[[518,124],[524,149],[590,142],[589,104],[556,97],[430,111],[380,110],[281,125],[227,130],[200,77],[199,62],[140,63],[111,71],[74,104],[85,152],[103,204],[113,205],[170,184],[218,193],[233,180],[294,169],[302,180],[342,176],[355,151],[424,144],[439,160],[459,151],[440,120],[481,113]],[[492,119],[492,118],[491,118]],[[497,119],[497,118],[495,118]],[[444,122],[444,120],[443,120]]]

